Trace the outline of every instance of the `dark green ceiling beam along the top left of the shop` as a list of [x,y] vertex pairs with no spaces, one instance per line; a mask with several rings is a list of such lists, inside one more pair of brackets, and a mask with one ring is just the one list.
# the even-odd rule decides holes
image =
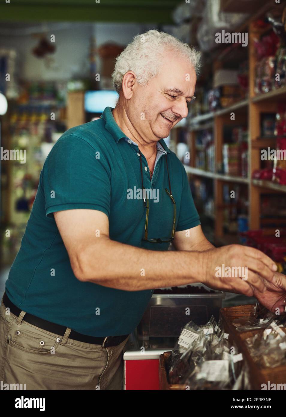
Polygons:
[[[133,0],[133,5],[126,2],[105,2],[88,5],[76,3],[66,5],[47,5],[45,3],[25,5],[3,3],[0,5],[0,20],[8,21],[82,21],[82,22],[130,22],[130,23],[159,23],[172,24],[171,12],[176,6],[172,2],[155,1],[146,7],[148,2],[138,2]],[[120,4],[121,3],[121,4]],[[116,4],[116,6],[114,5]],[[136,4],[136,6],[134,5]],[[144,5],[143,5],[144,4]]]

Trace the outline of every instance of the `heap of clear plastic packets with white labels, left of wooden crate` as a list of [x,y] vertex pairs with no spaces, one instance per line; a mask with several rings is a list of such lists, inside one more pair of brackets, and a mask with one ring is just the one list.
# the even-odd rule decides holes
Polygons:
[[[172,352],[171,384],[192,390],[248,389],[242,354],[233,349],[221,327],[214,317],[203,326],[189,322],[184,327]],[[182,351],[184,342],[188,347],[183,346]]]

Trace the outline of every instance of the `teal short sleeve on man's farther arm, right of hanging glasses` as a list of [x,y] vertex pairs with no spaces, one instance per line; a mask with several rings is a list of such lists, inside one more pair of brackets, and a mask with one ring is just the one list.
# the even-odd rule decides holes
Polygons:
[[176,227],[177,232],[191,229],[192,227],[195,227],[201,224],[200,217],[198,215],[197,209],[193,202],[193,196],[191,193],[190,184],[188,182],[188,176],[187,176],[187,173],[183,164],[181,164],[181,168],[182,168],[182,176],[183,176],[183,181],[182,181],[183,188],[182,188],[178,224]]

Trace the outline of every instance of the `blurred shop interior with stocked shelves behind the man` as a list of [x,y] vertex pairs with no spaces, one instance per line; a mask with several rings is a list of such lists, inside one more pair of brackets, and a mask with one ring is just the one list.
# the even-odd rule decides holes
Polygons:
[[[1,296],[46,156],[66,129],[115,106],[115,58],[149,29],[203,52],[197,98],[166,143],[186,167],[204,233],[216,246],[257,247],[286,273],[286,159],[261,159],[261,149],[286,153],[285,6],[283,0],[2,2],[0,144],[26,149],[26,163],[0,161]],[[247,42],[216,43],[223,30],[246,33]],[[227,301],[236,303],[231,294]]]

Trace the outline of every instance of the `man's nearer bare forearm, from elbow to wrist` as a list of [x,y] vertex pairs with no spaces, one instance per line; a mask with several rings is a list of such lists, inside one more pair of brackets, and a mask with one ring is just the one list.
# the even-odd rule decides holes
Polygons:
[[198,251],[151,251],[108,238],[88,246],[80,261],[82,281],[126,291],[202,282],[203,254]]

